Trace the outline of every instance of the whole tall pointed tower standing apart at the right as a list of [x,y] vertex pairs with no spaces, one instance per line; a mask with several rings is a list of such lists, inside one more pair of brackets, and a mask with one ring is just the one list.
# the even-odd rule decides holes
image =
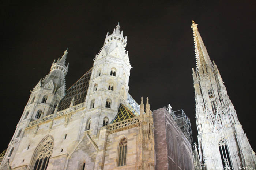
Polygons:
[[192,70],[200,161],[206,169],[255,168],[255,152],[237,118],[219,70],[211,62],[194,21],[191,28],[196,54],[196,70]]

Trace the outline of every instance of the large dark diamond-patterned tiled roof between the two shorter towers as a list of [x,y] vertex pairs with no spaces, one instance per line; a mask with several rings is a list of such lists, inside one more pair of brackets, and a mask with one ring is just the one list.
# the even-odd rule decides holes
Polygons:
[[74,105],[83,103],[87,94],[91,71],[87,71],[79,80],[75,82],[66,92],[63,99],[60,100],[58,111],[64,110],[70,106],[71,100],[74,97]]

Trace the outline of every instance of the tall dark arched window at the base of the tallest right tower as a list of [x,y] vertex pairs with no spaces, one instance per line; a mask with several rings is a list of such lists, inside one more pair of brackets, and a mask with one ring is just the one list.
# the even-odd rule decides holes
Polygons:
[[223,167],[232,167],[229,150],[227,149],[227,143],[223,139],[219,141],[219,153],[221,154]]

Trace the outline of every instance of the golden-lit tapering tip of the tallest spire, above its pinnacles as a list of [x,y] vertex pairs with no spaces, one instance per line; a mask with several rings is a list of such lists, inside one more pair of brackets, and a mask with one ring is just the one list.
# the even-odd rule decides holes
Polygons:
[[[194,36],[197,70],[210,68],[212,71],[213,70],[212,62],[210,60],[206,47],[204,46],[200,33],[197,29],[197,24],[194,21],[192,21],[191,28],[193,30],[193,36]],[[207,69],[205,71],[207,71]]]

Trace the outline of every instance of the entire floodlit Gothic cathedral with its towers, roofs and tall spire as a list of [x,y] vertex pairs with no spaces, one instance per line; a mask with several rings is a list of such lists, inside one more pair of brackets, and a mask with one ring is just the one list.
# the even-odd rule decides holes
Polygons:
[[[255,153],[237,119],[197,24],[192,23],[198,148],[183,110],[150,110],[129,91],[132,68],[120,25],[106,34],[93,67],[66,90],[68,50],[31,90],[0,170],[193,170],[255,168]],[[193,148],[193,151],[192,151]]]

